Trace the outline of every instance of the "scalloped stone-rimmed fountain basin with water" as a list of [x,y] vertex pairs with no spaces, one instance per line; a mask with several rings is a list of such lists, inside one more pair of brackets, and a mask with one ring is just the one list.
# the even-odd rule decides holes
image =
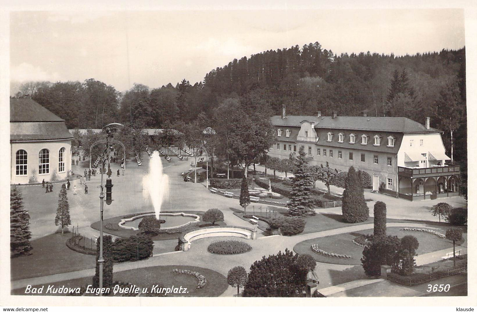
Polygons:
[[[122,219],[119,222],[119,227],[123,229],[129,229],[134,231],[139,231],[139,222],[143,220],[144,217],[155,216],[155,213],[146,213],[138,216],[134,216],[129,219]],[[200,217],[197,214],[185,213],[185,212],[161,212],[159,214],[159,219],[165,220],[165,223],[161,224],[162,230],[175,229],[181,226],[186,226],[192,223],[197,223],[200,221]],[[163,226],[164,225],[164,226]]]

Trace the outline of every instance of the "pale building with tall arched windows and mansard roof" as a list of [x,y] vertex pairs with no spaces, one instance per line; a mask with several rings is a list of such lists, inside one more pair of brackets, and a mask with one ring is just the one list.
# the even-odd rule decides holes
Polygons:
[[10,99],[10,183],[64,180],[71,140],[64,120],[31,99]]

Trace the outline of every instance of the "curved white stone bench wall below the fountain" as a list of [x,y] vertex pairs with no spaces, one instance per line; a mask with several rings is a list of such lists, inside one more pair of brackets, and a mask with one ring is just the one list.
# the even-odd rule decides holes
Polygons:
[[196,231],[190,231],[186,234],[181,234],[179,237],[180,250],[187,252],[190,249],[190,245],[193,241],[216,236],[232,236],[241,237],[246,239],[257,239],[257,230],[242,226],[217,226],[209,227],[206,229],[200,229]]

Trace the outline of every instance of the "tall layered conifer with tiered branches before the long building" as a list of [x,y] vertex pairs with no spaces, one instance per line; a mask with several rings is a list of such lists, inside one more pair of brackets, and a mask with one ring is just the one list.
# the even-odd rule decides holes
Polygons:
[[313,215],[313,201],[310,191],[313,181],[308,172],[308,165],[305,158],[305,149],[303,146],[298,151],[294,176],[291,178],[290,203],[288,204],[290,216],[304,217]]

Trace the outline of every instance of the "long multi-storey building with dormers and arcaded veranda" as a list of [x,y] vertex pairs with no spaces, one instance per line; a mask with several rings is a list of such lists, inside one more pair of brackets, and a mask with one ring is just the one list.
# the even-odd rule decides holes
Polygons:
[[309,164],[338,172],[351,166],[372,177],[373,191],[407,200],[458,196],[460,168],[450,160],[442,131],[404,117],[272,116],[277,143],[269,156],[288,158],[303,146]]

